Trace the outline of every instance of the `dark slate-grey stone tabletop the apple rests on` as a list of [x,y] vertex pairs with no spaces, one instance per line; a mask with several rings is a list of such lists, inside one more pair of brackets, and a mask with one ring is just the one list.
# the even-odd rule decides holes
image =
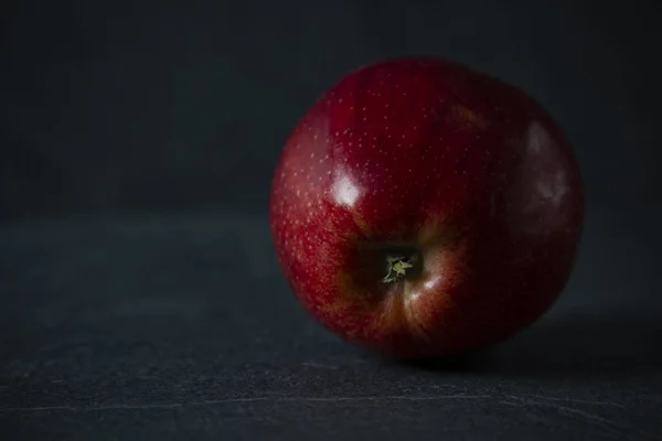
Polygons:
[[302,311],[266,216],[217,211],[0,230],[8,440],[662,439],[661,207],[592,207],[534,326],[403,364]]

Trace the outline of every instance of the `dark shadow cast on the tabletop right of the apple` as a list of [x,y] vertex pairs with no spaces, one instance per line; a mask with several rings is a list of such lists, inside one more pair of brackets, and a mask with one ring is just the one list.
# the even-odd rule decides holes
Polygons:
[[409,368],[503,377],[615,377],[662,373],[662,318],[541,321],[490,348],[403,361]]

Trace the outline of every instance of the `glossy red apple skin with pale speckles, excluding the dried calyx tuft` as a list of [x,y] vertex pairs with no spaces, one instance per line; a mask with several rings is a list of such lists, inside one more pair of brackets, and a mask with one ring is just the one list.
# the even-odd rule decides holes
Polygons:
[[[396,358],[485,348],[564,290],[584,222],[573,148],[521,89],[455,62],[351,72],[275,171],[279,263],[312,316]],[[384,282],[386,259],[416,268]]]

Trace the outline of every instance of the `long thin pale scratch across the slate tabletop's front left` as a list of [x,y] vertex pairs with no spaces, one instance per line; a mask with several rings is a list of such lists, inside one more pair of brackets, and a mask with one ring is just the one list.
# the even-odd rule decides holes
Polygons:
[[218,400],[189,401],[189,402],[164,402],[147,405],[106,405],[106,406],[33,406],[33,407],[7,407],[0,408],[0,412],[39,412],[39,411],[100,411],[100,410],[151,410],[151,409],[178,409],[197,406],[215,406],[231,402],[346,402],[346,401],[435,401],[466,399],[476,400],[489,398],[488,395],[444,395],[444,396],[370,396],[370,397],[245,397],[226,398]]

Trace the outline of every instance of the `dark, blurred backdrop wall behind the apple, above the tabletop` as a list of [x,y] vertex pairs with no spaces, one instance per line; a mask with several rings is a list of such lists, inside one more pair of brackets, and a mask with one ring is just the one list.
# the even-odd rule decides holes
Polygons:
[[575,143],[590,203],[654,201],[661,4],[3,3],[0,214],[264,209],[313,100],[359,65],[412,54],[538,99]]

